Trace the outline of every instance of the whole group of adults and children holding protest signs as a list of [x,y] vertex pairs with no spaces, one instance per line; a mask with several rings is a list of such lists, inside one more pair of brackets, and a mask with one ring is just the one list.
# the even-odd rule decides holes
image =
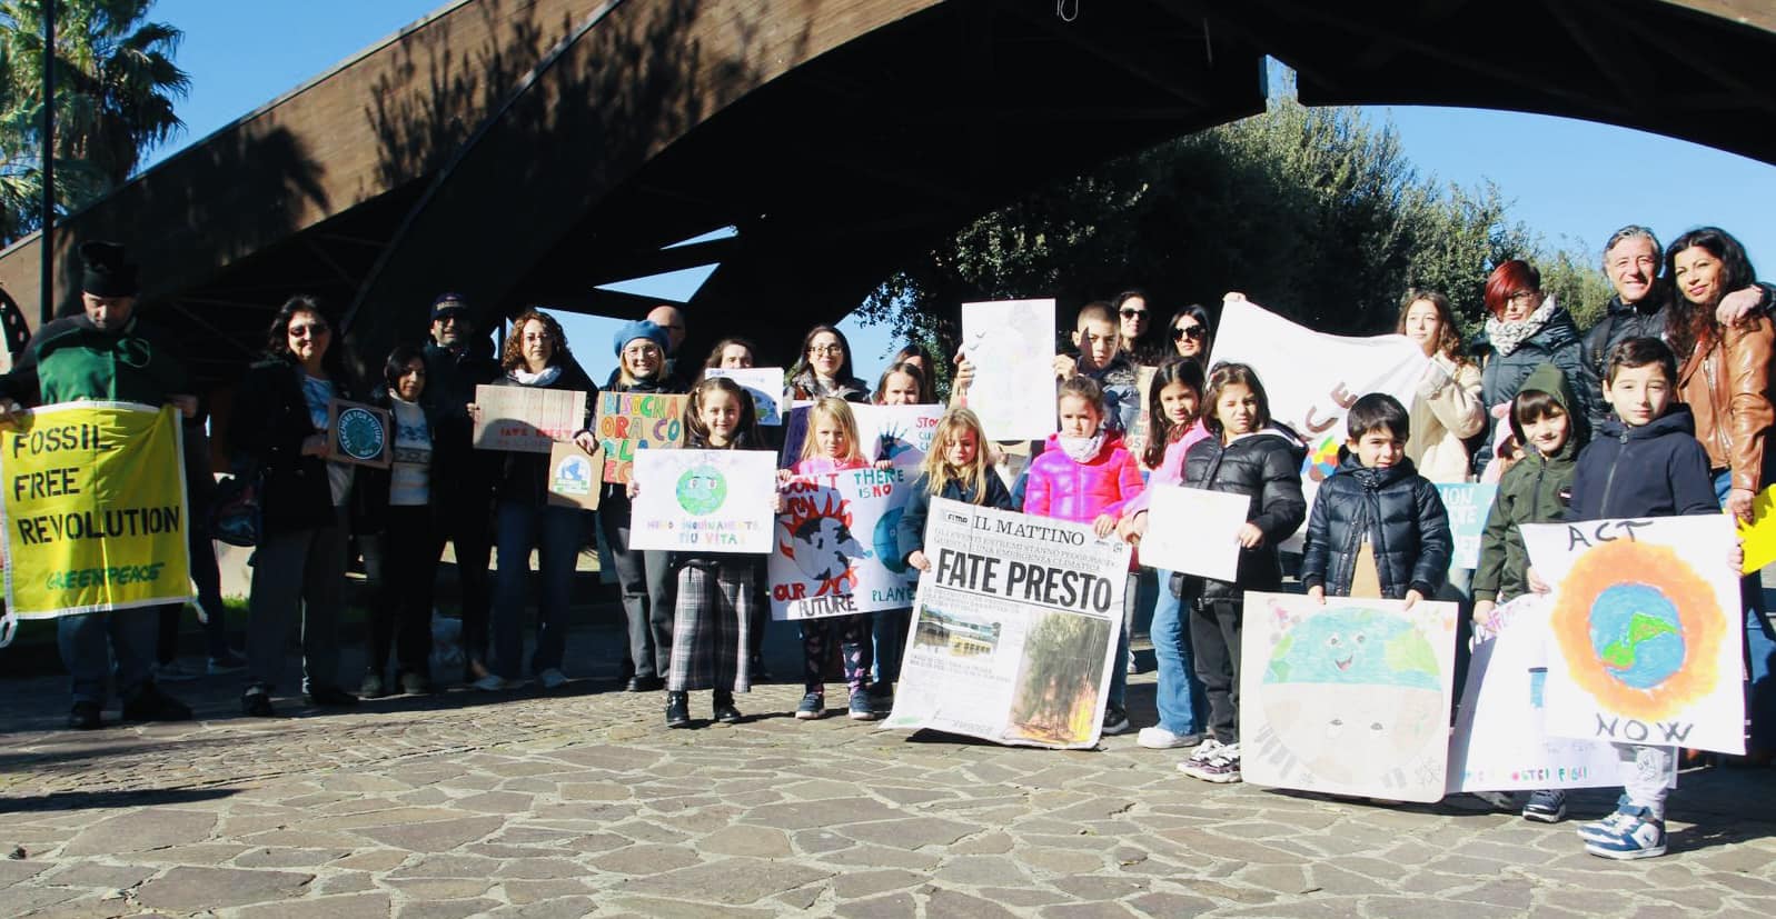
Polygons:
[[[201,435],[202,406],[176,350],[135,316],[137,268],[112,243],[85,243],[80,254],[83,310],[43,326],[14,371],[0,378],[5,408],[80,399],[170,403],[190,419],[188,431]],[[1142,291],[1080,309],[1076,353],[1055,358],[1058,433],[1030,445],[1028,468],[1003,481],[993,472],[1003,451],[966,408],[970,381],[987,369],[955,355],[952,408],[938,424],[913,486],[913,504],[902,516],[902,561],[916,569],[929,566],[918,522],[932,495],[1076,520],[1094,525],[1099,536],[1115,532],[1131,543],[1147,527],[1144,493],[1151,486],[1247,495],[1252,513],[1240,532],[1236,580],[1151,569],[1130,575],[1130,610],[1117,639],[1119,665],[1101,726],[1106,734],[1133,727],[1124,706],[1126,672],[1133,669],[1128,653],[1133,598],[1156,594],[1151,635],[1158,722],[1142,727],[1137,742],[1151,749],[1193,747],[1181,770],[1215,782],[1240,781],[1241,596],[1247,589],[1282,585],[1279,543],[1304,522],[1307,552],[1293,573],[1309,594],[1453,598],[1483,616],[1538,589],[1517,523],[1574,513],[1703,509],[1751,518],[1753,499],[1767,484],[1765,435],[1776,422],[1771,289],[1756,284],[1739,241],[1712,227],[1685,232],[1666,248],[1652,231],[1623,227],[1607,240],[1602,270],[1616,295],[1606,316],[1581,334],[1568,310],[1542,289],[1531,264],[1495,266],[1485,286],[1487,334],[1479,348],[1463,342],[1447,296],[1407,291],[1396,330],[1428,358],[1424,378],[1410,405],[1380,394],[1357,399],[1339,470],[1312,509],[1300,490],[1305,452],[1300,436],[1270,417],[1263,381],[1250,365],[1208,364],[1211,312],[1199,305],[1176,310],[1163,326]],[[593,539],[593,511],[549,500],[545,454],[472,445],[476,387],[686,394],[687,445],[771,447],[758,433],[751,399],[732,381],[702,373],[751,367],[757,348],[748,339],[723,339],[703,367],[687,367],[678,353],[686,318],[675,307],[659,307],[616,332],[611,348],[618,365],[602,385],[588,378],[549,312],[529,309],[513,318],[497,357],[485,332],[465,298],[446,293],[432,305],[428,341],[394,348],[380,378],[359,385],[346,371],[329,309],[293,296],[277,310],[265,358],[240,381],[229,420],[217,433],[231,451],[233,475],[252,484],[258,514],[243,660],[227,648],[220,624],[213,555],[194,552],[194,578],[201,587],[211,584],[199,591],[211,637],[208,669],[245,674],[247,715],[275,713],[286,642],[298,621],[302,694],[309,704],[353,706],[361,697],[432,692],[444,676],[432,672],[430,658],[433,582],[446,543],[453,546],[460,584],[462,679],[487,692],[527,679],[545,690],[567,683],[568,605],[577,559]],[[119,355],[126,353],[130,358],[123,360]],[[1156,365],[1146,401],[1137,385],[1142,365]],[[812,403],[808,440],[783,479],[877,463],[881,458],[858,444],[847,403],[936,403],[936,371],[931,355],[909,346],[872,387],[856,376],[840,330],[828,325],[810,330],[787,373],[794,397]],[[1623,389],[1630,383],[1632,394]],[[389,468],[329,458],[325,431],[334,399],[389,412]],[[1669,410],[1666,401],[1673,403]],[[595,399],[588,399],[588,415],[574,433],[586,452],[597,449],[591,405]],[[1135,456],[1122,438],[1142,415],[1149,442]],[[1666,465],[1655,468],[1650,447],[1641,442],[1671,433],[1678,438],[1659,440],[1657,463]],[[208,456],[192,456],[190,444],[201,444],[201,436],[186,440],[192,477],[201,479],[192,495],[201,504],[210,484]],[[1581,509],[1586,486],[1581,470],[1602,461],[1607,442],[1616,442],[1611,449],[1620,454],[1611,454],[1611,463],[1621,458],[1639,463],[1630,463],[1632,484],[1616,484],[1614,502],[1607,488],[1602,497],[1591,491],[1593,502]],[[1586,444],[1593,452],[1581,456]],[[1668,486],[1661,475],[1678,463],[1673,456],[1694,461],[1696,468],[1685,467],[1682,483]],[[1451,569],[1449,530],[1430,484],[1476,479],[1497,481],[1499,499],[1479,568]],[[1691,488],[1698,481],[1707,486],[1707,500],[1698,500]],[[595,525],[607,543],[622,594],[625,688],[666,690],[671,727],[689,724],[687,692],[698,688],[716,692],[716,720],[739,720],[733,692],[744,692],[760,676],[765,607],[760,559],[630,550],[632,499],[639,486],[602,488]],[[190,518],[204,522],[208,514],[194,507]],[[208,543],[201,525],[192,529],[194,543]],[[337,637],[353,546],[373,587],[368,667],[355,687],[352,674],[341,672]],[[494,546],[497,566],[490,571]],[[533,580],[536,619],[526,660]],[[178,610],[160,621],[169,614],[176,639]],[[847,683],[849,715],[879,717],[892,704],[908,614],[803,623],[806,692],[796,717],[826,713],[824,679],[833,651]],[[1776,752],[1769,676],[1776,640],[1755,577],[1744,585],[1744,623],[1748,674],[1756,694],[1749,708],[1751,756],[1767,761]],[[112,672],[124,720],[190,717],[190,708],[155,679],[156,653],[162,667],[170,660],[169,640],[156,633],[155,619],[128,610],[64,616],[59,644],[73,674],[73,727],[101,724]],[[162,669],[162,676],[169,671]],[[1643,770],[1657,766],[1652,763],[1657,749],[1627,756]],[[1590,832],[1588,844],[1614,846],[1613,857],[1657,855],[1664,846],[1662,795],[1648,797],[1645,788],[1632,786],[1629,791],[1618,814],[1581,834]],[[1559,820],[1565,804],[1558,795],[1543,795],[1524,814]],[[1657,829],[1655,841],[1646,827]]]

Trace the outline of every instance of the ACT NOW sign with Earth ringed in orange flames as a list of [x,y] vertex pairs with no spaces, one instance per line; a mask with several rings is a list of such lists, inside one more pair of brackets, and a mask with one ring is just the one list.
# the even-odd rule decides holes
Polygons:
[[1518,527],[1552,587],[1547,731],[1746,752],[1726,514]]

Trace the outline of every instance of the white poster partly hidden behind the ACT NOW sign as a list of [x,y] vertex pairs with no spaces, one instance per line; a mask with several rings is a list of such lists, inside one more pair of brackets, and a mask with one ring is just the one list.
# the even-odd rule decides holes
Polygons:
[[[1455,791],[1534,791],[1621,784],[1616,749],[1545,731],[1547,598],[1524,594],[1494,610],[1497,632],[1476,630],[1467,687],[1449,742]],[[1671,759],[1671,782],[1677,759]]]

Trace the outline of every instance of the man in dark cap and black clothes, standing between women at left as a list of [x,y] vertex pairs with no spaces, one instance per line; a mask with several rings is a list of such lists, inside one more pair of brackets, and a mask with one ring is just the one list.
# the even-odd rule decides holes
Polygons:
[[462,648],[467,665],[464,681],[472,683],[487,671],[487,621],[492,603],[492,578],[487,571],[494,530],[494,470],[487,451],[476,451],[474,420],[469,403],[474,387],[499,380],[487,335],[474,334],[474,314],[462,295],[446,293],[432,302],[432,344],[424,351],[426,389],[423,401],[437,413],[432,488],[444,509],[446,534],[456,557],[462,591]]

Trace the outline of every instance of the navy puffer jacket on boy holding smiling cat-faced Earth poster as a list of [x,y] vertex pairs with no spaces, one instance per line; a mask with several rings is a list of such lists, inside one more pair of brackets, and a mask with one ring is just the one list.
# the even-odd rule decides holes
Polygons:
[[1455,541],[1437,486],[1419,475],[1412,460],[1368,468],[1339,447],[1337,472],[1320,483],[1314,511],[1307,516],[1302,584],[1348,596],[1364,534],[1387,600],[1399,600],[1407,591],[1435,596],[1449,577]]

